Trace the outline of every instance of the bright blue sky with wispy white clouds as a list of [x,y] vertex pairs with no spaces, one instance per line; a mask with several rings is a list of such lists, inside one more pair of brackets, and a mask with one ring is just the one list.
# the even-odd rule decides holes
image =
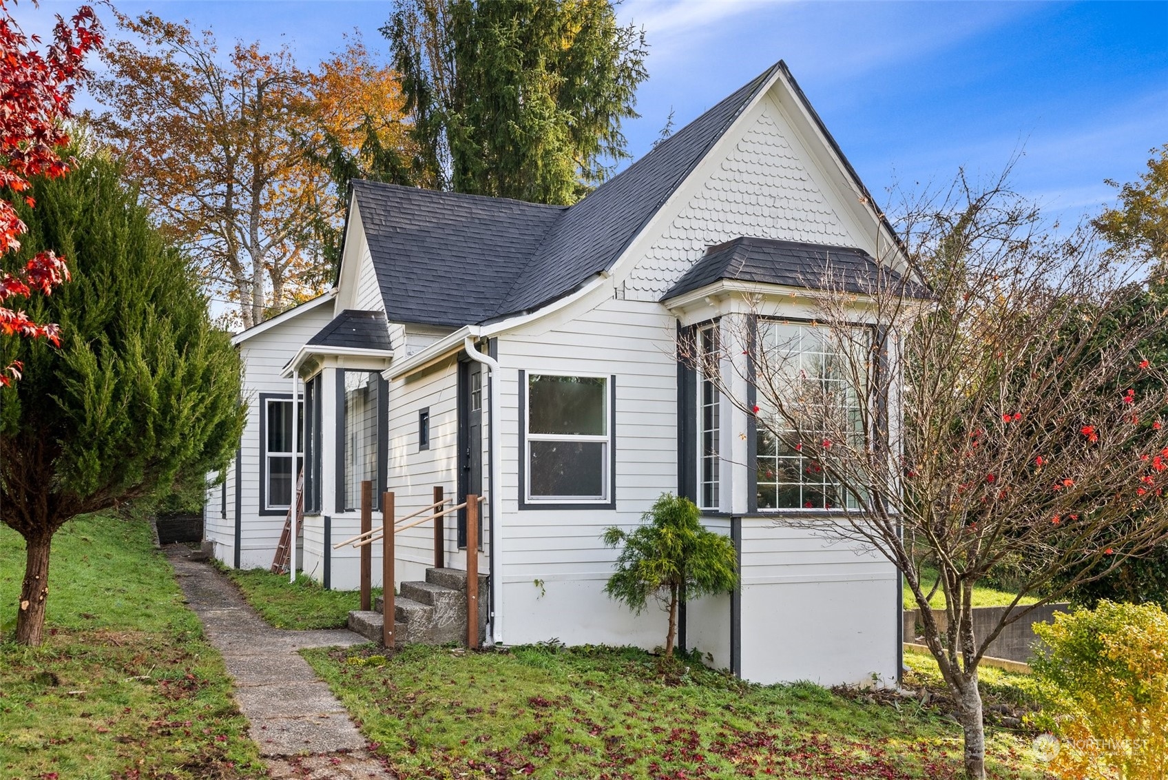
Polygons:
[[[76,2],[22,2],[28,32]],[[381,1],[116,2],[210,27],[221,41],[288,44],[305,65],[360,29],[385,51]],[[681,126],[786,60],[869,189],[943,182],[959,166],[999,171],[1073,220],[1112,199],[1168,143],[1168,2],[771,2],[626,0],[642,25],[649,80],[628,149],[647,151],[670,109]]]

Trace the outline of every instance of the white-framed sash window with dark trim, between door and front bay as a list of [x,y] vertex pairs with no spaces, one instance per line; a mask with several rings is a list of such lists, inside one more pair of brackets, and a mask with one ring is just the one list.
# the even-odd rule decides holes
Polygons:
[[528,377],[527,501],[609,501],[609,414],[604,377]]

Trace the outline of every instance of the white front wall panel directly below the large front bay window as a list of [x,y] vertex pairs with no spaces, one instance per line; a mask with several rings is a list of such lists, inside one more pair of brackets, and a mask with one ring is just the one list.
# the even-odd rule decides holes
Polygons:
[[777,683],[896,681],[895,567],[857,543],[742,522],[742,675]]

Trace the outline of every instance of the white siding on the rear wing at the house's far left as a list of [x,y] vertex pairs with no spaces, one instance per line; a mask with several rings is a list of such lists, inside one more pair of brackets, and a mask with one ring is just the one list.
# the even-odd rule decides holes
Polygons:
[[[243,394],[248,403],[248,419],[239,447],[242,461],[238,479],[242,501],[243,538],[239,545],[242,568],[271,566],[285,520],[284,512],[260,515],[260,393],[280,393],[285,396],[292,393],[292,380],[281,379],[280,371],[297,350],[332,318],[333,305],[324,303],[251,337],[238,347],[244,371]],[[236,477],[235,460],[232,460],[228,474],[228,517],[216,520],[206,531],[206,538],[215,543],[215,557],[228,566],[235,562]]]

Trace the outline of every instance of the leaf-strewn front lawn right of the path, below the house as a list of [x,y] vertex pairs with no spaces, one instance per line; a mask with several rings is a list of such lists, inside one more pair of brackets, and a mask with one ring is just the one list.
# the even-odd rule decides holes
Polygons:
[[[751,685],[695,661],[662,674],[627,648],[303,654],[402,780],[961,775],[957,724],[898,696]],[[1030,738],[988,743],[990,776],[1044,776]]]

